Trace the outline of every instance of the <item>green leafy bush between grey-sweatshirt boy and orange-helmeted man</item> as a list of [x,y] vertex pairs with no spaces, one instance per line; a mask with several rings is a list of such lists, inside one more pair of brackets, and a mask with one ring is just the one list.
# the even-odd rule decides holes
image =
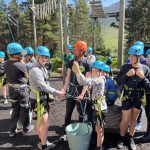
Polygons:
[[58,68],[62,67],[62,60],[60,58],[51,58],[52,71],[58,72]]

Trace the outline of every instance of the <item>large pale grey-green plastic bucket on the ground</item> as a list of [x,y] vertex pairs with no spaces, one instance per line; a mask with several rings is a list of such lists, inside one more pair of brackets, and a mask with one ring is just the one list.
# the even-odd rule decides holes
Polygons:
[[88,150],[92,135],[91,123],[73,123],[66,127],[70,150]]

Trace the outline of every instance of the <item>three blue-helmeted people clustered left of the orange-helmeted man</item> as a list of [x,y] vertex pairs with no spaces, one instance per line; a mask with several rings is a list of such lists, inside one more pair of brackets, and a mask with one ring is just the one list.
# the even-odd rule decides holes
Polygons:
[[38,46],[35,51],[31,47],[24,48],[19,43],[7,45],[8,60],[3,63],[10,101],[12,104],[9,137],[17,134],[17,122],[22,124],[25,135],[34,126],[30,124],[30,111],[37,114],[37,132],[39,147],[48,150],[55,144],[47,140],[48,133],[48,93],[61,96],[63,92],[49,85],[48,71],[45,67],[49,61],[50,51],[45,46]]

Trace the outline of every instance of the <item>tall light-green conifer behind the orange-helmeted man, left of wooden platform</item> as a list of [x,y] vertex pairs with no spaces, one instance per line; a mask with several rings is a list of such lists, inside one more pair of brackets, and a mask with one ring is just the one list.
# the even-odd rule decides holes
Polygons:
[[[92,46],[92,19],[89,17],[89,7],[86,0],[78,0],[76,5],[69,5],[69,33],[71,43],[84,40],[88,46]],[[96,23],[96,46],[97,48],[103,46],[99,22]]]

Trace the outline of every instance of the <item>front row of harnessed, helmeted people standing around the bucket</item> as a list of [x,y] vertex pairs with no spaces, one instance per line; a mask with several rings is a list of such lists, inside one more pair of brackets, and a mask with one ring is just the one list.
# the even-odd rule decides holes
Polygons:
[[[24,50],[26,50],[26,54]],[[117,99],[116,87],[109,75],[110,66],[97,60],[89,64],[87,58],[84,57],[88,51],[87,43],[77,41],[72,51],[73,57],[66,64],[66,78],[63,88],[58,91],[52,88],[48,81],[49,76],[45,65],[50,58],[49,49],[45,46],[38,46],[35,58],[33,58],[33,53],[28,53],[28,50],[31,48],[23,49],[18,43],[10,43],[7,46],[9,59],[4,62],[4,72],[13,108],[9,136],[16,135],[19,118],[21,118],[23,125],[23,134],[33,129],[29,122],[29,111],[32,109],[37,114],[37,133],[41,149],[55,148],[56,145],[47,140],[49,128],[48,94],[61,98],[67,96],[65,127],[71,123],[71,116],[76,105],[80,114],[79,121],[84,121],[83,107],[86,105],[87,121],[95,125],[97,132],[95,149],[104,149],[104,118],[107,110],[105,100],[108,105],[113,105]],[[147,66],[140,63],[143,52],[143,46],[139,44],[131,46],[128,52],[130,63],[122,66],[117,78],[118,85],[123,85],[122,120],[120,138],[117,142],[117,147],[120,149],[123,148],[128,127],[130,147],[133,150],[136,149],[133,136],[144,95],[146,95],[144,106],[148,124],[147,133],[142,137],[142,140],[150,140],[150,70],[148,67],[150,66],[150,50],[146,52]],[[88,101],[85,100],[86,97],[88,97]],[[65,131],[60,139],[67,139]]]

